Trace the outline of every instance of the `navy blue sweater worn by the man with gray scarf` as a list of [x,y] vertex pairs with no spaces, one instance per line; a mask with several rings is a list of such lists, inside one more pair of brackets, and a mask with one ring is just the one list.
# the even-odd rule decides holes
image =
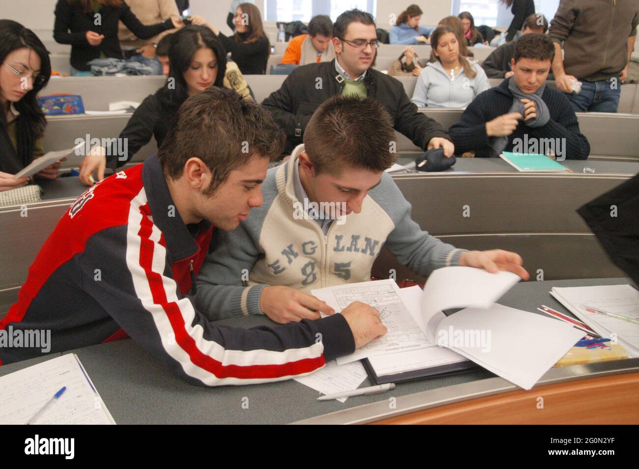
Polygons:
[[[585,160],[590,154],[588,139],[581,134],[579,122],[574,114],[568,98],[557,89],[546,86],[541,98],[548,106],[550,120],[542,127],[528,127],[523,121],[508,136],[505,151],[512,151],[513,141],[521,139],[566,139],[564,148],[566,159]],[[461,155],[466,151],[475,151],[475,157],[498,157],[491,148],[486,134],[486,122],[499,116],[508,114],[512,106],[512,93],[508,89],[508,79],[499,86],[481,93],[466,107],[458,123],[449,129],[452,142],[455,144],[455,154]]]

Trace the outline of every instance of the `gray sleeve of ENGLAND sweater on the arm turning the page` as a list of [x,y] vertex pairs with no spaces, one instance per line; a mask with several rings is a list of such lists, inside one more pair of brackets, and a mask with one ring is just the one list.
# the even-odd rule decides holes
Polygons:
[[466,249],[456,249],[422,231],[410,217],[410,203],[389,174],[383,174],[381,184],[369,195],[395,224],[395,229],[386,239],[386,245],[397,261],[419,275],[428,275],[436,268],[459,265],[459,256]]

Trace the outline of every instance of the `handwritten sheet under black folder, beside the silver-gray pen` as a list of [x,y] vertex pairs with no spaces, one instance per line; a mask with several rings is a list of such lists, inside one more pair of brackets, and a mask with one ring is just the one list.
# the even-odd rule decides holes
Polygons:
[[[293,379],[322,394],[334,394],[357,389],[366,380],[366,376],[366,370],[361,362],[338,365],[335,360],[331,360],[322,369]],[[343,403],[346,399],[348,397],[335,400]]]

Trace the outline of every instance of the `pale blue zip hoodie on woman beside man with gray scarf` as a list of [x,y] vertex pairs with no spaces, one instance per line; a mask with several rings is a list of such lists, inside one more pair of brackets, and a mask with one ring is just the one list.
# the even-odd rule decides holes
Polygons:
[[466,107],[479,93],[490,89],[486,72],[477,62],[470,62],[475,78],[466,77],[462,68],[450,79],[440,61],[429,62],[419,73],[412,102],[417,107]]

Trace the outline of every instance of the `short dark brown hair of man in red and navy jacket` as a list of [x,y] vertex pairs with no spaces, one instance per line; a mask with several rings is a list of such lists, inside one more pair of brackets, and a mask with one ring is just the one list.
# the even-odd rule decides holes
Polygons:
[[254,153],[278,157],[285,141],[284,132],[261,105],[244,100],[233,89],[211,86],[181,105],[158,159],[164,174],[176,180],[189,158],[200,158],[213,173],[205,194],[211,195]]

